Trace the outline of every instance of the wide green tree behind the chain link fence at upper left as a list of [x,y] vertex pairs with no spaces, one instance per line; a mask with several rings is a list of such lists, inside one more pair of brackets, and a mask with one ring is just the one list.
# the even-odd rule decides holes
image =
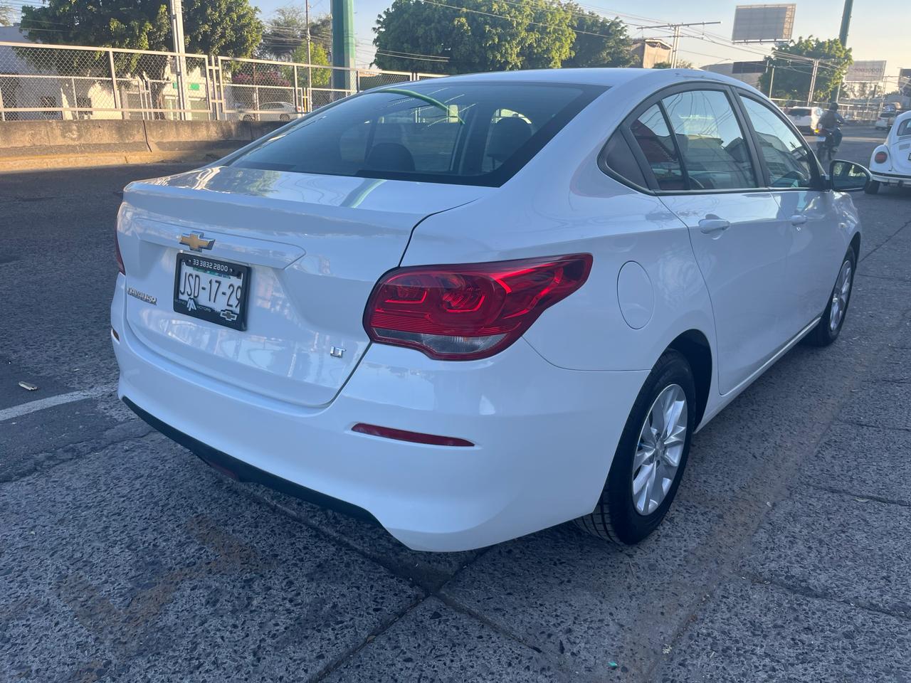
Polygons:
[[[251,56],[262,22],[248,0],[186,0],[183,25],[188,52]],[[170,50],[166,0],[46,0],[22,8],[22,30],[36,43]]]

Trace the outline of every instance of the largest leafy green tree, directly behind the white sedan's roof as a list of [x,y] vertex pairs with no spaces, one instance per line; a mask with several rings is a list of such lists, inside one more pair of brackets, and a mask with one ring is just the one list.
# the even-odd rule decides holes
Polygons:
[[450,74],[556,68],[572,55],[570,19],[558,0],[394,0],[376,18],[374,63]]

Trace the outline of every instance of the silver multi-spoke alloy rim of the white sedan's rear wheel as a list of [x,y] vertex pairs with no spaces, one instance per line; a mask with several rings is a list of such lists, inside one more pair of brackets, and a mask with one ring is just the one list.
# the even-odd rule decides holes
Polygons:
[[686,394],[680,384],[666,386],[651,404],[632,463],[632,502],[650,515],[664,501],[681,464],[687,429]]

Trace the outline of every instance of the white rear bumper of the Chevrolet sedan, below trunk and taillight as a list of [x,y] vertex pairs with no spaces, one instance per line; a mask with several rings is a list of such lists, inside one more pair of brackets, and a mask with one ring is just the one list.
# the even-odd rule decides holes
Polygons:
[[[152,352],[129,331],[122,287],[118,393],[140,416],[241,479],[363,510],[416,550],[482,547],[589,513],[648,375],[563,370],[524,340],[477,362],[374,344],[332,403],[305,409]],[[356,423],[476,445],[393,441]]]

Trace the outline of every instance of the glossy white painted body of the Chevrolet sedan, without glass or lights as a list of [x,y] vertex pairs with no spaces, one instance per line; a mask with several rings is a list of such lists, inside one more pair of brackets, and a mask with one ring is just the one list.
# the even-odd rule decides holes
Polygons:
[[[702,426],[819,320],[845,250],[859,245],[847,195],[650,193],[599,168],[615,128],[662,88],[768,102],[758,91],[687,70],[434,83],[476,81],[609,89],[500,187],[232,166],[247,150],[131,183],[111,307],[119,396],[197,453],[361,508],[411,548],[454,551],[590,513],[630,406],[671,344],[711,354],[697,368]],[[701,221],[718,216],[730,229],[706,234]],[[246,331],[172,309],[188,233],[215,240],[207,258],[251,267]],[[585,284],[483,360],[435,360],[364,330],[387,270],[579,253],[593,262]],[[472,445],[406,443],[356,423]]]

